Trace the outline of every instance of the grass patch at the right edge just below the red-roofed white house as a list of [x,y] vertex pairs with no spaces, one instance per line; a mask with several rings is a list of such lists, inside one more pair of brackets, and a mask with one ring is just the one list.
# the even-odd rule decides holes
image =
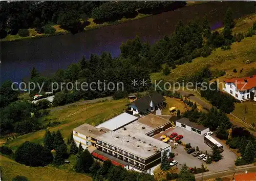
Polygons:
[[245,118],[244,121],[249,124],[256,124],[256,102],[237,103],[232,113],[242,120]]

